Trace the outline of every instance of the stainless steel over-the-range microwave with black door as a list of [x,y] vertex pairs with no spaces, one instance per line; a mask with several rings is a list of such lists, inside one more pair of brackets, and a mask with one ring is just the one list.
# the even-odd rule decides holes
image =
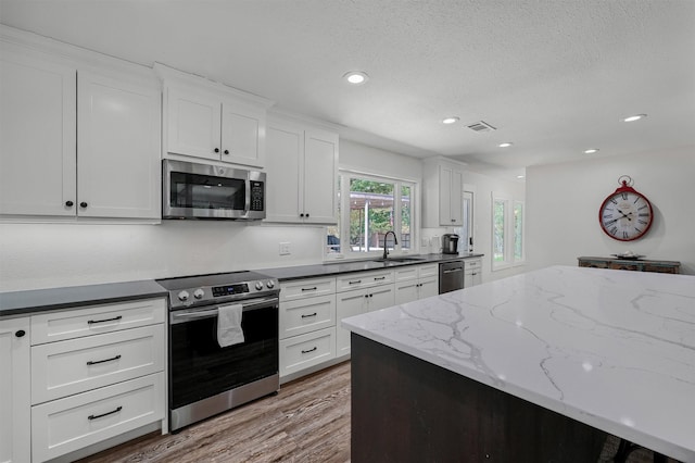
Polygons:
[[162,218],[265,218],[265,173],[166,159]]

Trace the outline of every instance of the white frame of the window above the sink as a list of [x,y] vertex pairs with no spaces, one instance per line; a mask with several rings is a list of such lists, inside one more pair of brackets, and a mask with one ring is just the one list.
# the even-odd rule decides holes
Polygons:
[[[350,247],[350,186],[352,179],[364,179],[370,182],[380,182],[393,184],[394,191],[394,205],[393,205],[393,230],[396,234],[399,243],[391,248],[389,247],[389,254],[401,255],[412,254],[419,252],[419,233],[420,224],[417,221],[419,216],[419,182],[413,178],[400,178],[388,175],[368,173],[364,171],[355,171],[350,168],[341,168],[338,172],[338,185],[337,190],[339,208],[338,208],[338,229],[340,233],[341,250],[340,252],[328,252],[328,246],[324,246],[324,261],[337,261],[337,260],[370,260],[380,258],[383,255],[383,249],[374,251],[353,251]],[[406,186],[410,188],[410,247],[403,249],[403,201],[401,200],[402,188]],[[397,192],[397,200],[396,200]],[[328,229],[326,236],[328,235]],[[326,237],[324,237],[326,240]],[[342,243],[345,242],[345,248]]]

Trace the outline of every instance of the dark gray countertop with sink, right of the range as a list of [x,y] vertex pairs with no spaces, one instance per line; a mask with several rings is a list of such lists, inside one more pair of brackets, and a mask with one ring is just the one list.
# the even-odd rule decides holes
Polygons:
[[403,265],[418,265],[429,264],[433,262],[447,262],[456,261],[460,259],[473,259],[481,258],[484,254],[478,253],[459,253],[459,254],[417,254],[412,255],[417,260],[412,261],[396,261],[399,258],[407,258],[408,255],[392,255],[393,259],[390,262],[376,262],[371,260],[363,261],[346,261],[324,263],[315,265],[298,265],[292,267],[277,267],[277,268],[260,268],[257,272],[278,278],[281,281],[301,279],[301,278],[316,278],[321,276],[336,276],[345,273],[354,272],[367,272],[375,270],[383,270],[391,267],[399,267]]

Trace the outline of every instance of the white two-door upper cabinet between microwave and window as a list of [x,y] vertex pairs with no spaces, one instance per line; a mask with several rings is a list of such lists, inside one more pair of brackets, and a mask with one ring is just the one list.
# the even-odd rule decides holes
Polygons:
[[266,172],[266,221],[337,222],[338,134],[271,118]]

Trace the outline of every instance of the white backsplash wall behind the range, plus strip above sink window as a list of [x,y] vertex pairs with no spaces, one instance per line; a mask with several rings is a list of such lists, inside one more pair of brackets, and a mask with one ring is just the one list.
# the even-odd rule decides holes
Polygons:
[[[418,179],[420,161],[341,140],[341,165]],[[229,221],[0,223],[0,291],[316,264],[326,228]],[[290,242],[290,255],[278,243]]]

